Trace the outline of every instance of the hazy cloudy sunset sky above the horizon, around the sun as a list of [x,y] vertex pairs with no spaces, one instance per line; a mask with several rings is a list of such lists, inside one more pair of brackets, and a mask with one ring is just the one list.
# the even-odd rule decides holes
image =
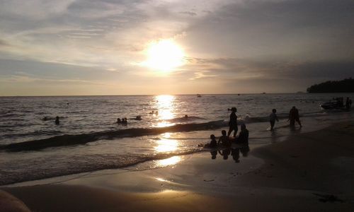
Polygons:
[[[305,91],[353,77],[353,23],[353,0],[1,0],[0,95]],[[183,64],[144,65],[161,40]]]

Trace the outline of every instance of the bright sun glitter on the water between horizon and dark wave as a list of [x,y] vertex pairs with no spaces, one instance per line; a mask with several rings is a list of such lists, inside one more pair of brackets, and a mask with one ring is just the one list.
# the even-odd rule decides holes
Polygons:
[[157,126],[163,127],[172,125],[171,123],[166,122],[166,120],[173,119],[175,117],[175,113],[173,112],[175,109],[175,105],[173,104],[174,100],[175,97],[173,95],[156,96],[156,107],[159,112],[159,122],[157,123]]

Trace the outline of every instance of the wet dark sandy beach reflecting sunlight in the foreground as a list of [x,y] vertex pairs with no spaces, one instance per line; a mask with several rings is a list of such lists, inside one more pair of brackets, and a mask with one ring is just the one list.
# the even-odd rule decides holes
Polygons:
[[1,189],[32,211],[354,211],[353,137],[346,122],[237,160],[197,153]]

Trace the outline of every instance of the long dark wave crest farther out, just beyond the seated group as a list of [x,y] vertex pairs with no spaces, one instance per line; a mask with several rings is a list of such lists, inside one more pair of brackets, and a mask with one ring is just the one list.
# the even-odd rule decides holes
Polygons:
[[5,151],[35,151],[42,148],[57,147],[57,146],[72,146],[77,144],[85,144],[101,139],[120,139],[125,137],[150,136],[163,134],[166,132],[181,132],[181,131],[200,131],[208,129],[219,129],[227,126],[227,122],[219,120],[215,122],[207,122],[200,124],[176,124],[173,126],[159,128],[130,128],[120,129],[116,131],[98,131],[88,134],[62,135],[53,136],[48,139],[39,139],[33,141],[23,141],[20,143],[11,143],[1,145],[0,150]]

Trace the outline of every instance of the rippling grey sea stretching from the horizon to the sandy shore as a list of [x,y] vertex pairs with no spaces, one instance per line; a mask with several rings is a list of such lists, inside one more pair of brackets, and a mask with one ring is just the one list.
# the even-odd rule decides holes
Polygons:
[[[353,100],[354,93],[1,97],[0,185],[146,161],[152,163],[144,168],[178,163],[179,155],[204,151],[199,143],[228,129],[231,107],[249,129],[251,147],[280,142],[353,119],[353,110],[319,106],[336,97]],[[288,127],[292,106],[302,128]],[[273,108],[280,122],[269,131]],[[127,124],[117,124],[123,117]]]

